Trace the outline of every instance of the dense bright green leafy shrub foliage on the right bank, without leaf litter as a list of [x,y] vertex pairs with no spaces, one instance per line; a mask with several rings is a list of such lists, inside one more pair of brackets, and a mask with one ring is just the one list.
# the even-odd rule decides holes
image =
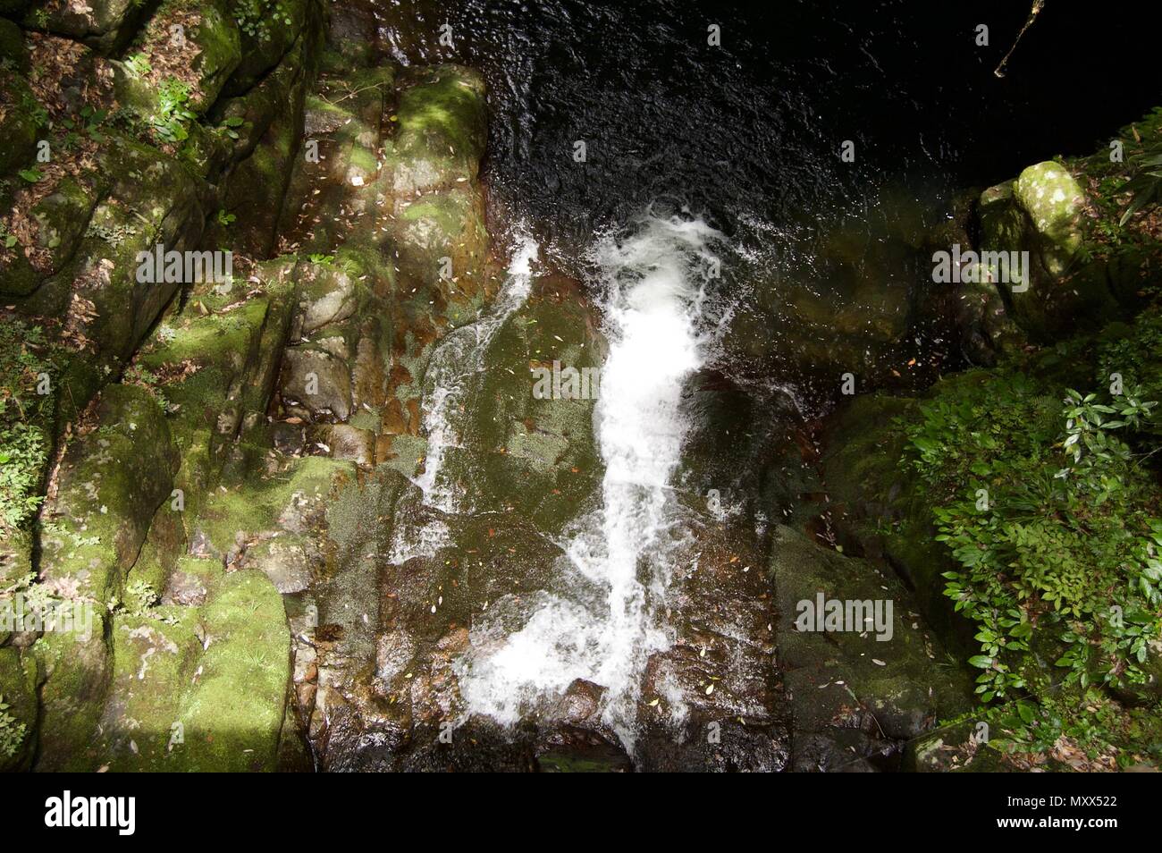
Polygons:
[[[981,379],[983,378],[983,381]],[[937,539],[957,565],[945,594],[976,623],[977,693],[1028,688],[1034,638],[1064,653],[1067,681],[1139,683],[1162,631],[1162,522],[1150,478],[1118,432],[1155,404],[1129,393],[1064,407],[1021,372],[969,375],[908,424],[909,464],[932,490]]]

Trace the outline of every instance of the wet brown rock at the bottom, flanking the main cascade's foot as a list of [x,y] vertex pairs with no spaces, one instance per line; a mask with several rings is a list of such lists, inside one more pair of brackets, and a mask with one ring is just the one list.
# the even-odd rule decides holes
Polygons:
[[[389,482],[340,500],[365,508],[360,518],[394,518],[394,536],[422,538],[431,511],[415,487]],[[725,529],[700,529],[695,551],[676,560],[697,568],[672,580],[665,619],[675,636],[643,672],[631,747],[603,719],[607,688],[582,679],[514,727],[471,714],[462,661],[503,640],[473,625],[552,589],[564,555],[516,514],[446,521],[449,545],[402,562],[380,555],[399,544],[386,526],[356,535],[339,546],[338,572],[311,590],[320,624],[310,734],[322,768],[786,767],[773,595],[756,554],[740,553]],[[350,529],[374,530],[364,521]]]

